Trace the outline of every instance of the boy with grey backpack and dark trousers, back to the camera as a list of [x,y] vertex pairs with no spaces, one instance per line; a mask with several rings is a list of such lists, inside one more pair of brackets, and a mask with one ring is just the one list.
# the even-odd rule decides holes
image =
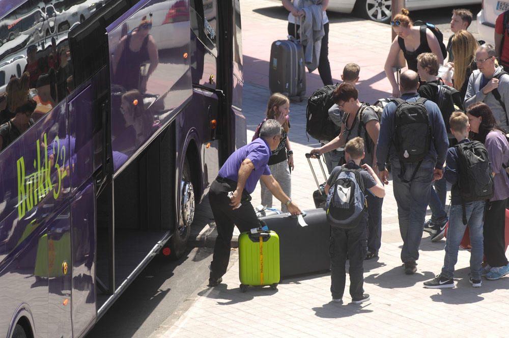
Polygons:
[[[360,304],[370,299],[364,294],[363,260],[366,254],[367,211],[366,193],[379,198],[385,195],[385,189],[371,166],[363,164],[364,140],[351,139],[345,146],[347,164],[336,166],[325,185],[327,196],[327,221],[331,225],[330,261],[333,302],[343,302],[346,283],[346,260],[350,261],[350,295],[352,303]],[[369,190],[370,192],[367,192]]]

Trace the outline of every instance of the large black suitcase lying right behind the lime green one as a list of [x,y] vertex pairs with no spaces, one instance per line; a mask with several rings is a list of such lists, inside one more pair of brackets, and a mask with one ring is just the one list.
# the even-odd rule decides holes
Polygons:
[[302,227],[289,213],[260,218],[262,224],[279,236],[279,269],[281,278],[330,270],[330,226],[325,210],[304,211]]

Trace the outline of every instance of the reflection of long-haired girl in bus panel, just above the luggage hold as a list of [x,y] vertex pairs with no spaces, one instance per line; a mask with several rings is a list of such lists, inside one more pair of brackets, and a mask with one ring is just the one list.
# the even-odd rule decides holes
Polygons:
[[138,147],[150,135],[154,119],[145,111],[143,95],[132,90],[122,95],[120,111],[125,119],[125,126],[132,127],[135,132],[135,147]]

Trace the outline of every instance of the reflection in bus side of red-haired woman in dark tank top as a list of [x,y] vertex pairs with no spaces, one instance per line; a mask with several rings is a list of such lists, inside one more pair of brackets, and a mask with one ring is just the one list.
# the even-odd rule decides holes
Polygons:
[[[139,25],[123,37],[113,57],[113,82],[129,91],[147,91],[147,80],[159,63],[159,55],[154,38],[149,34],[152,20],[147,16]],[[149,64],[148,70],[145,65]],[[143,68],[143,71],[142,71]]]

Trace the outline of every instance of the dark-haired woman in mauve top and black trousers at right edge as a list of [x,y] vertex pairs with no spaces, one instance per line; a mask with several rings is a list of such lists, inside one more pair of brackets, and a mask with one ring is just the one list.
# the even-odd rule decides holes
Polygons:
[[494,195],[486,204],[483,231],[486,258],[483,275],[486,279],[494,280],[509,272],[504,236],[505,207],[509,198],[509,177],[504,165],[509,162],[509,144],[486,103],[476,102],[469,106],[467,116],[472,139],[483,143],[488,150],[494,176]]

